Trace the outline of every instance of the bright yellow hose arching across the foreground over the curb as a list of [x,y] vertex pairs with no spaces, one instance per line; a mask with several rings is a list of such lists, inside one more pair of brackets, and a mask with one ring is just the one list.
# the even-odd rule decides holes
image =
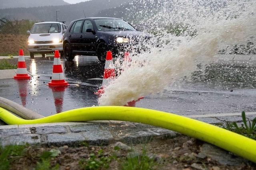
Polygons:
[[0,119],[9,125],[94,120],[144,123],[206,141],[256,163],[256,141],[208,123],[151,109],[124,106],[85,107],[40,119],[25,120],[0,107]]

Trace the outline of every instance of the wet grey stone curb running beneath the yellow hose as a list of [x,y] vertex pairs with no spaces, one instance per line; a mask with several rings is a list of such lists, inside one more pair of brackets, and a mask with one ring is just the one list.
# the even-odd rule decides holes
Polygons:
[[[231,113],[230,113],[231,114]],[[219,117],[194,116],[194,119],[210,124],[223,124],[226,121],[241,122],[241,116],[221,115]],[[247,115],[252,120],[256,113]],[[150,139],[174,138],[179,133],[124,121],[89,121],[45,123],[34,125],[4,125],[0,126],[0,143],[2,146],[10,144],[39,144],[44,146],[76,146],[86,141],[90,145],[108,145],[121,141],[124,143],[141,143]]]

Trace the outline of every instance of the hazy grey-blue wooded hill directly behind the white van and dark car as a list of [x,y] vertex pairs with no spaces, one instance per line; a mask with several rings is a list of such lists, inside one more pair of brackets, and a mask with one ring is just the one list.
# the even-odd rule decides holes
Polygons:
[[91,0],[63,6],[2,9],[0,10],[0,18],[55,21],[56,10],[60,10],[58,12],[58,21],[66,21],[69,24],[72,20],[84,18],[84,12],[86,17],[95,17],[102,10],[115,8],[129,2],[132,2],[132,0]]

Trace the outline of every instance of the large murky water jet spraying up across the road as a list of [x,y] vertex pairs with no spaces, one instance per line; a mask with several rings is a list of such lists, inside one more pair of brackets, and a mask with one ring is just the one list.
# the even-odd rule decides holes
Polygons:
[[[140,96],[162,92],[171,83],[191,76],[197,64],[208,64],[228,45],[255,42],[255,1],[179,0],[166,4],[146,21],[156,24],[161,18],[156,30],[164,45],[133,56],[129,67],[118,65],[124,71],[105,88],[98,100],[100,106],[123,106]],[[174,22],[189,26],[180,36],[164,31],[164,26]]]

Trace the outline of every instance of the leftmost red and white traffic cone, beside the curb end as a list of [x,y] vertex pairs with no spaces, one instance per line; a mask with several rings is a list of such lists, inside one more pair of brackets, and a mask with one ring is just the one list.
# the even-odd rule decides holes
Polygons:
[[24,53],[23,53],[22,49],[20,49],[20,51],[19,51],[17,74],[13,78],[18,79],[18,80],[30,79],[30,76],[28,75],[28,70],[26,67],[26,62],[25,62]]

